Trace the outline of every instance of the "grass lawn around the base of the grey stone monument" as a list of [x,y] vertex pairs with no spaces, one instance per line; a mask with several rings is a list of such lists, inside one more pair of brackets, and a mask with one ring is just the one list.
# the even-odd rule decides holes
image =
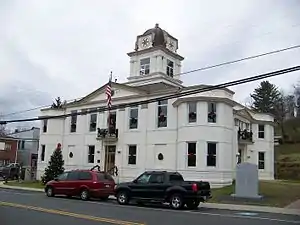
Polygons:
[[273,207],[285,207],[290,203],[300,199],[300,182],[297,181],[260,181],[259,194],[263,195],[262,200],[257,201],[241,201],[230,200],[228,197],[234,193],[234,186],[227,186],[212,190],[213,198],[210,202],[214,203],[234,203],[263,205]]

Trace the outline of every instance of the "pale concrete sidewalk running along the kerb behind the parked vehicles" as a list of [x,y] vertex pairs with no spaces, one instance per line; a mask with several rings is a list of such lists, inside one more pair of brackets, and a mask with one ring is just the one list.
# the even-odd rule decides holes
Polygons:
[[[2,188],[2,189],[14,189],[14,190],[44,192],[43,189],[9,186],[9,185],[3,184],[3,182],[0,182],[0,188]],[[111,196],[110,199],[116,200],[116,198],[114,196]],[[296,204],[296,203],[299,204],[299,206],[300,206],[300,200],[298,200],[298,201],[296,201],[295,203],[292,203],[292,204]],[[280,214],[300,216],[300,209],[294,209],[293,207],[294,206],[287,206],[286,208],[277,208],[277,207],[268,207],[268,206],[234,205],[234,204],[218,204],[218,203],[203,203],[203,204],[200,204],[200,208],[207,208],[207,209],[225,209],[225,210],[237,210],[237,211],[280,213]]]

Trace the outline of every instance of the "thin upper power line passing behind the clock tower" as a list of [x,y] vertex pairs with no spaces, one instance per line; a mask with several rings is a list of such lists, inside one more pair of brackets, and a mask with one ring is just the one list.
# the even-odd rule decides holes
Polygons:
[[[233,60],[233,61],[227,61],[227,62],[223,62],[223,63],[211,65],[211,66],[205,66],[205,67],[201,67],[201,68],[198,68],[198,69],[178,73],[178,74],[175,74],[174,76],[178,76],[178,75],[181,76],[181,75],[194,73],[194,72],[198,72],[198,71],[209,70],[209,69],[213,69],[213,68],[216,68],[216,67],[230,65],[230,64],[234,64],[234,63],[238,63],[238,62],[242,62],[242,61],[246,61],[246,60],[250,60],[250,59],[259,58],[259,57],[263,57],[263,56],[266,56],[266,55],[272,55],[272,54],[276,54],[276,53],[279,53],[279,52],[284,52],[284,51],[288,51],[288,50],[292,50],[292,49],[296,49],[296,48],[300,48],[300,45],[294,45],[294,46],[290,46],[290,47],[287,47],[287,48],[282,48],[282,49],[274,50],[274,51],[271,51],[271,52],[262,53],[262,54],[259,54],[259,55],[248,56],[248,57]],[[79,100],[81,98],[67,100],[67,102],[76,101],[76,100]],[[38,107],[35,107],[35,108],[31,108],[31,109],[16,111],[16,112],[13,112],[13,113],[8,113],[8,114],[5,114],[5,115],[2,115],[2,117],[12,116],[12,115],[16,115],[16,114],[20,114],[20,113],[24,113],[24,112],[30,112],[30,111],[34,111],[34,110],[37,110],[37,109],[50,107],[50,106],[51,105],[44,105],[44,106],[38,106]]]

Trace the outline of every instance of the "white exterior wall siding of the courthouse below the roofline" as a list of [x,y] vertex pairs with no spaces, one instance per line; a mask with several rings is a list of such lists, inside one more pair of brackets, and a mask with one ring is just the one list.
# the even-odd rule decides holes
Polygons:
[[[205,96],[204,93],[201,94]],[[225,91],[207,93],[211,97],[231,98]],[[145,98],[132,99],[132,101]],[[226,103],[217,103],[217,122],[207,122],[207,102],[197,102],[197,122],[188,123],[187,103],[174,107],[175,99],[168,101],[168,127],[157,128],[157,104],[148,104],[148,108],[139,106],[138,129],[129,129],[129,108],[117,110],[117,128],[119,139],[116,143],[116,165],[119,168],[118,181],[134,179],[145,170],[177,170],[185,179],[208,180],[213,186],[230,184],[234,178],[236,154],[238,152],[237,128],[234,126],[233,108]],[[120,104],[124,102],[114,102]],[[91,104],[82,108],[94,108]],[[67,109],[66,113],[76,108]],[[49,115],[51,111],[43,111]],[[57,113],[64,113],[62,111]],[[97,113],[97,127],[106,128],[107,113]],[[47,133],[41,132],[40,145],[46,145],[46,157],[40,162],[39,175],[42,175],[50,156],[57,143],[62,144],[66,169],[90,168],[100,160],[104,168],[105,150],[101,141],[96,140],[96,132],[89,132],[90,115],[77,117],[77,130],[70,133],[70,118],[52,119],[48,121]],[[270,119],[270,118],[268,118]],[[265,139],[258,140],[257,124],[253,124],[254,144],[247,146],[247,160],[257,163],[258,151],[266,152],[266,168],[260,171],[262,179],[273,179],[274,132],[271,125],[265,126]],[[42,129],[41,129],[42,130]],[[195,168],[187,167],[187,142],[197,142],[197,165]],[[207,142],[217,143],[217,165],[206,166]],[[128,145],[137,145],[137,164],[128,165]],[[68,146],[73,145],[73,158],[70,160]],[[95,145],[95,163],[88,163],[88,145]],[[164,159],[159,161],[157,155],[162,153]]]

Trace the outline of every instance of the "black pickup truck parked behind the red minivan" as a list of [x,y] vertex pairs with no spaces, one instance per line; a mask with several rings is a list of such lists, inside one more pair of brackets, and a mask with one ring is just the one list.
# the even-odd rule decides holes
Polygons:
[[121,205],[136,200],[169,203],[172,209],[196,209],[200,202],[211,198],[210,184],[204,181],[184,181],[178,172],[147,171],[132,182],[115,187],[117,201]]

